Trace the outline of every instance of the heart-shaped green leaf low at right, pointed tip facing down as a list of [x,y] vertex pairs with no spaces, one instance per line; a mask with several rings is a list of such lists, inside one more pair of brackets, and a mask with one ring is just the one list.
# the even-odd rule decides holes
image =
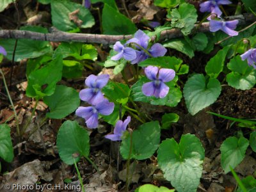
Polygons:
[[236,166],[243,161],[249,141],[246,138],[229,137],[221,144],[221,167],[225,173],[230,172],[229,166]]

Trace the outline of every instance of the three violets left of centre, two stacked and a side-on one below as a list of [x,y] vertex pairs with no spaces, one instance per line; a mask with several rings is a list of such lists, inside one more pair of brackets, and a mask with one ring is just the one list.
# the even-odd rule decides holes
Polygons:
[[[101,90],[108,83],[109,75],[102,74],[99,76],[90,75],[86,78],[85,84],[88,88],[85,88],[79,92],[81,100],[88,102],[92,106],[79,107],[76,109],[76,115],[85,119],[86,126],[90,129],[95,129],[99,125],[99,114],[110,115],[113,113],[115,104],[109,102],[104,97]],[[121,140],[122,134],[126,130],[127,125],[131,121],[131,117],[122,122],[118,120],[115,125],[114,134],[108,134],[105,137],[112,141]]]

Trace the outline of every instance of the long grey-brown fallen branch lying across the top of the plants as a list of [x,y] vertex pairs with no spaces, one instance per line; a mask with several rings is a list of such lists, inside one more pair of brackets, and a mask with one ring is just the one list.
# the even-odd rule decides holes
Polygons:
[[[254,22],[256,17],[252,14],[234,15],[227,17],[226,20],[239,20],[239,25],[244,25],[250,22]],[[209,31],[209,22],[203,22],[200,26],[195,24],[195,28],[198,32]],[[180,29],[169,29],[161,32],[160,40],[171,39],[183,36]],[[52,33],[37,33],[33,31],[22,30],[0,30],[0,38],[14,38],[14,39],[33,39],[33,40],[45,40],[49,42],[84,42],[88,44],[115,44],[119,40],[127,40],[132,38],[132,35],[97,35],[97,34],[84,34],[84,33],[66,33],[63,31],[52,31]],[[153,37],[154,38],[154,37]]]

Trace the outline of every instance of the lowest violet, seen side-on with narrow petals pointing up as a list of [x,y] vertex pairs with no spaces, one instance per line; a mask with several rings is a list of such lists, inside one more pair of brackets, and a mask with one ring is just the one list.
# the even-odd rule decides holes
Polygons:
[[120,141],[129,122],[131,122],[131,116],[127,116],[124,122],[122,122],[122,120],[118,120],[115,125],[114,134],[108,134],[105,136],[105,138],[112,141]]

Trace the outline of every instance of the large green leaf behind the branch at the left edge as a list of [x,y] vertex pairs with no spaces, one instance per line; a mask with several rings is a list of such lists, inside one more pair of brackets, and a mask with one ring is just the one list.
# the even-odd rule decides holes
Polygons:
[[[39,26],[25,26],[21,27],[20,30],[35,31],[38,33],[48,32],[47,29]],[[12,61],[15,39],[1,39],[0,44],[4,47],[4,49],[7,52],[6,58]],[[52,52],[52,47],[50,46],[49,42],[21,39],[17,42],[14,61],[21,61],[27,58],[37,58],[49,52]]]

